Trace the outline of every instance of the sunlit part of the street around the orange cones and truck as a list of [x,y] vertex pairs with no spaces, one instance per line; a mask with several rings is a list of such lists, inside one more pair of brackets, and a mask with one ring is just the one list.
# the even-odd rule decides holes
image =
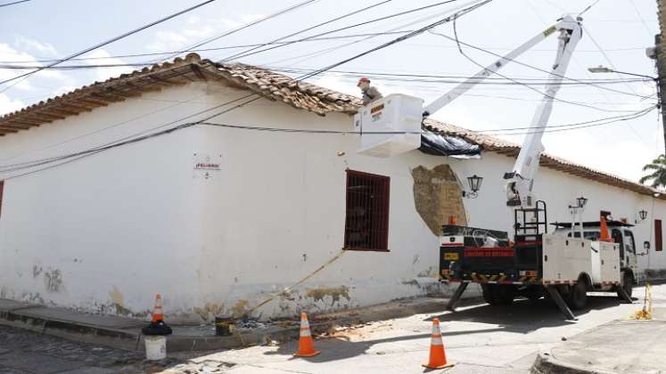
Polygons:
[[[666,305],[666,285],[653,289],[657,305]],[[643,288],[634,289],[642,297]],[[211,369],[225,365],[226,372],[244,373],[422,373],[428,359],[432,318],[440,326],[450,370],[447,373],[529,373],[540,350],[604,323],[627,319],[641,308],[620,304],[614,294],[590,297],[588,309],[577,313],[579,321],[564,321],[555,305],[545,299],[518,300],[509,307],[472,305],[456,313],[417,314],[407,318],[379,321],[356,329],[340,329],[333,337],[318,338],[322,353],[312,358],[294,358],[296,343],[257,346],[241,350],[205,354],[189,360],[190,365],[174,367],[179,372],[206,363]],[[231,366],[233,365],[233,366]]]

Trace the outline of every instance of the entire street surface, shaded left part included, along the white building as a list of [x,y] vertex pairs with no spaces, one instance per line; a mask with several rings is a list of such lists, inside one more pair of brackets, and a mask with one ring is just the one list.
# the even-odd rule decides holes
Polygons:
[[[655,306],[666,306],[666,285],[653,288]],[[643,288],[634,289],[642,297]],[[209,353],[169,354],[165,362],[145,362],[140,354],[72,343],[20,329],[0,327],[0,373],[228,372],[244,373],[529,373],[539,352],[566,346],[572,337],[614,320],[626,320],[641,305],[617,297],[590,297],[579,321],[565,321],[548,300],[518,300],[513,306],[484,304],[456,313],[341,327],[317,337],[321,354],[294,358],[298,342]],[[443,305],[442,305],[443,309]],[[449,370],[424,370],[432,318],[440,319]],[[628,337],[631,341],[635,337]]]

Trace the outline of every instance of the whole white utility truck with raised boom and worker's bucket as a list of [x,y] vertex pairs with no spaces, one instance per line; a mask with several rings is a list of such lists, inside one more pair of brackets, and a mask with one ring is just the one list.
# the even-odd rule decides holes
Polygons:
[[[571,53],[582,37],[580,22],[580,18],[563,16],[552,27],[425,107],[421,99],[394,94],[362,108],[355,118],[355,126],[362,134],[361,154],[390,157],[418,148],[420,135],[415,126],[420,130],[423,118],[454,101],[542,40],[557,35],[555,63],[547,77],[543,97],[514,167],[504,175],[506,205],[514,209],[514,240],[509,240],[507,232],[458,225],[442,227],[440,279],[459,283],[447,305],[449,310],[455,310],[471,282],[481,284],[483,297],[490,305],[508,305],[517,296],[530,299],[547,296],[572,320],[575,316],[570,306],[573,309],[584,307],[588,291],[616,291],[618,297],[631,302],[628,293],[635,280],[636,250],[635,246],[633,249],[629,245],[621,247],[625,245],[621,240],[628,241],[630,225],[602,214],[598,222],[580,222],[579,231],[574,230],[577,225],[573,223],[568,227],[556,224],[555,232],[548,233],[546,202],[535,199],[532,192],[544,150],[541,137]],[[421,116],[417,112],[419,108],[423,108]],[[397,132],[401,134],[395,134]],[[571,207],[575,213],[582,209]],[[620,242],[609,239],[609,228],[620,232],[617,236]]]

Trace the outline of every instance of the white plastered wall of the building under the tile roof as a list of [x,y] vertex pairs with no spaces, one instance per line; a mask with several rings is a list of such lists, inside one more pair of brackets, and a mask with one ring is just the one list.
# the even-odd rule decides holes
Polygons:
[[[0,138],[0,165],[87,149],[244,94],[216,84],[146,94]],[[346,115],[322,118],[267,100],[210,121],[351,129]],[[391,252],[349,251],[253,315],[369,305],[438,289],[439,240],[415,210],[410,171],[417,166],[448,163],[464,181],[483,176],[479,197],[465,199],[469,224],[510,230],[501,176],[512,159],[485,153],[456,160],[417,150],[374,159],[356,154],[358,142],[350,134],[196,126],[34,175],[5,173],[0,296],[143,316],[160,292],[174,317],[246,313],[341,251],[347,168],[391,176]],[[220,164],[209,178],[193,171],[206,156]],[[600,208],[630,220],[640,208],[654,218],[666,211],[649,197],[547,169],[537,189],[551,221],[568,220],[566,206],[581,194],[589,220]],[[649,237],[649,226],[637,226],[637,243]],[[652,252],[650,266],[666,267],[665,258]],[[641,260],[646,266],[647,256]]]

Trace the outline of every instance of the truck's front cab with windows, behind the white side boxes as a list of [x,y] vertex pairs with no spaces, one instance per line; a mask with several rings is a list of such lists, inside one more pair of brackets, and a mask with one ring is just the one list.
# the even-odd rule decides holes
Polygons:
[[[561,235],[567,238],[580,238],[580,224],[576,223],[571,229],[571,223],[554,223],[555,235]],[[627,294],[631,296],[631,285],[636,284],[638,272],[638,257],[642,254],[637,253],[636,239],[631,231],[633,224],[623,221],[607,221],[608,231],[613,238],[613,242],[619,244],[620,266],[621,266],[621,284]],[[589,221],[582,223],[583,239],[599,240],[601,236],[601,226],[599,221]]]

